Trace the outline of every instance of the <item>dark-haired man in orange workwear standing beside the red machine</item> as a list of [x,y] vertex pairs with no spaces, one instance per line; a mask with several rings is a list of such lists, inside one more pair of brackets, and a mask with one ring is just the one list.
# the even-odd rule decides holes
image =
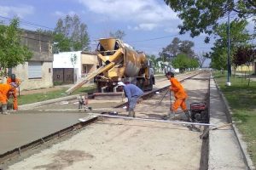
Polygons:
[[190,122],[189,111],[187,110],[186,105],[186,99],[188,98],[188,94],[185,92],[181,83],[178,82],[177,79],[174,77],[173,72],[168,71],[166,73],[166,77],[171,82],[170,90],[173,92],[175,97],[175,101],[173,105],[171,105],[170,111],[175,114],[177,112],[177,108],[180,106],[187,117],[187,121]]

